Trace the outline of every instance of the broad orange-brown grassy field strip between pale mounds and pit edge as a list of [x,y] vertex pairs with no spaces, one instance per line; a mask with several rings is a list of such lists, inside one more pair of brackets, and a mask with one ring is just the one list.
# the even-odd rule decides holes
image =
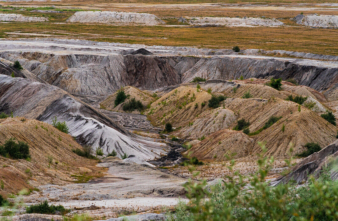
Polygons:
[[[15,27],[15,28],[14,28]],[[338,55],[338,30],[307,27],[168,27],[103,24],[2,23],[0,36],[27,37],[5,32],[48,33],[67,38],[145,45],[208,48],[256,48]],[[30,36],[33,37],[34,35]]]

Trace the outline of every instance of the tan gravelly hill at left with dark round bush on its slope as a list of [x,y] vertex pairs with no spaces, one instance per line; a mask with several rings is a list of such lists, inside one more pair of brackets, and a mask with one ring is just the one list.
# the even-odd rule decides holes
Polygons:
[[[104,170],[95,166],[96,160],[73,153],[73,148],[81,146],[72,136],[48,123],[23,117],[0,119],[0,145],[9,138],[28,143],[31,157],[30,160],[12,160],[0,156],[0,176],[4,182],[4,189],[0,189],[2,195],[48,183],[72,183],[77,179],[71,175],[84,172],[88,176],[103,175]],[[51,165],[48,156],[53,158]]]

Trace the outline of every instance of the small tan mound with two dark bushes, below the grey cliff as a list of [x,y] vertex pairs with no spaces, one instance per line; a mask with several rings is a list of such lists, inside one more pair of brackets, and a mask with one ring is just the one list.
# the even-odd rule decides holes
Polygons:
[[[124,112],[123,111],[123,105],[128,103],[130,99],[135,98],[136,101],[141,101],[142,105],[144,107],[147,107],[147,105],[155,100],[152,96],[150,96],[149,93],[145,91],[141,91],[135,87],[127,86],[122,89],[124,93],[129,97],[121,104],[115,106],[115,99],[117,96],[117,92],[114,94],[108,96],[106,100],[104,100],[102,103],[100,103],[100,107],[110,110],[110,111],[117,111],[117,112]],[[134,111],[136,113],[139,113],[139,111]]]

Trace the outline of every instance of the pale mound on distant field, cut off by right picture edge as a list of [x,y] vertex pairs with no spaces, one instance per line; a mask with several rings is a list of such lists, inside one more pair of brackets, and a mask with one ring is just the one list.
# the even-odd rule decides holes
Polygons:
[[297,15],[292,21],[309,27],[338,28],[338,16],[334,15]]

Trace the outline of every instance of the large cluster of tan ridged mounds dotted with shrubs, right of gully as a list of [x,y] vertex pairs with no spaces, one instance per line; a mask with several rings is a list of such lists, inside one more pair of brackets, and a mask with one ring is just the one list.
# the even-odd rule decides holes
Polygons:
[[[193,156],[204,160],[224,160],[226,153],[236,153],[236,158],[254,157],[261,152],[258,141],[266,143],[268,155],[285,158],[290,145],[295,155],[305,150],[307,142],[318,142],[324,147],[336,139],[337,127],[319,116],[327,110],[325,96],[309,87],[288,82],[284,82],[283,89],[278,91],[263,85],[265,82],[258,79],[209,80],[171,87],[172,90],[164,92],[146,113],[156,126],[172,123],[176,128],[172,135],[202,140],[194,142],[192,150]],[[213,109],[208,107],[212,95],[207,91],[231,98],[226,98]],[[248,92],[251,98],[244,99]],[[307,100],[314,103],[313,107],[306,108],[304,102],[299,112],[297,103],[285,100],[288,95],[298,94],[308,96]],[[279,120],[258,133],[271,116]],[[254,134],[233,130],[237,120],[242,118],[249,121],[250,133]]]

